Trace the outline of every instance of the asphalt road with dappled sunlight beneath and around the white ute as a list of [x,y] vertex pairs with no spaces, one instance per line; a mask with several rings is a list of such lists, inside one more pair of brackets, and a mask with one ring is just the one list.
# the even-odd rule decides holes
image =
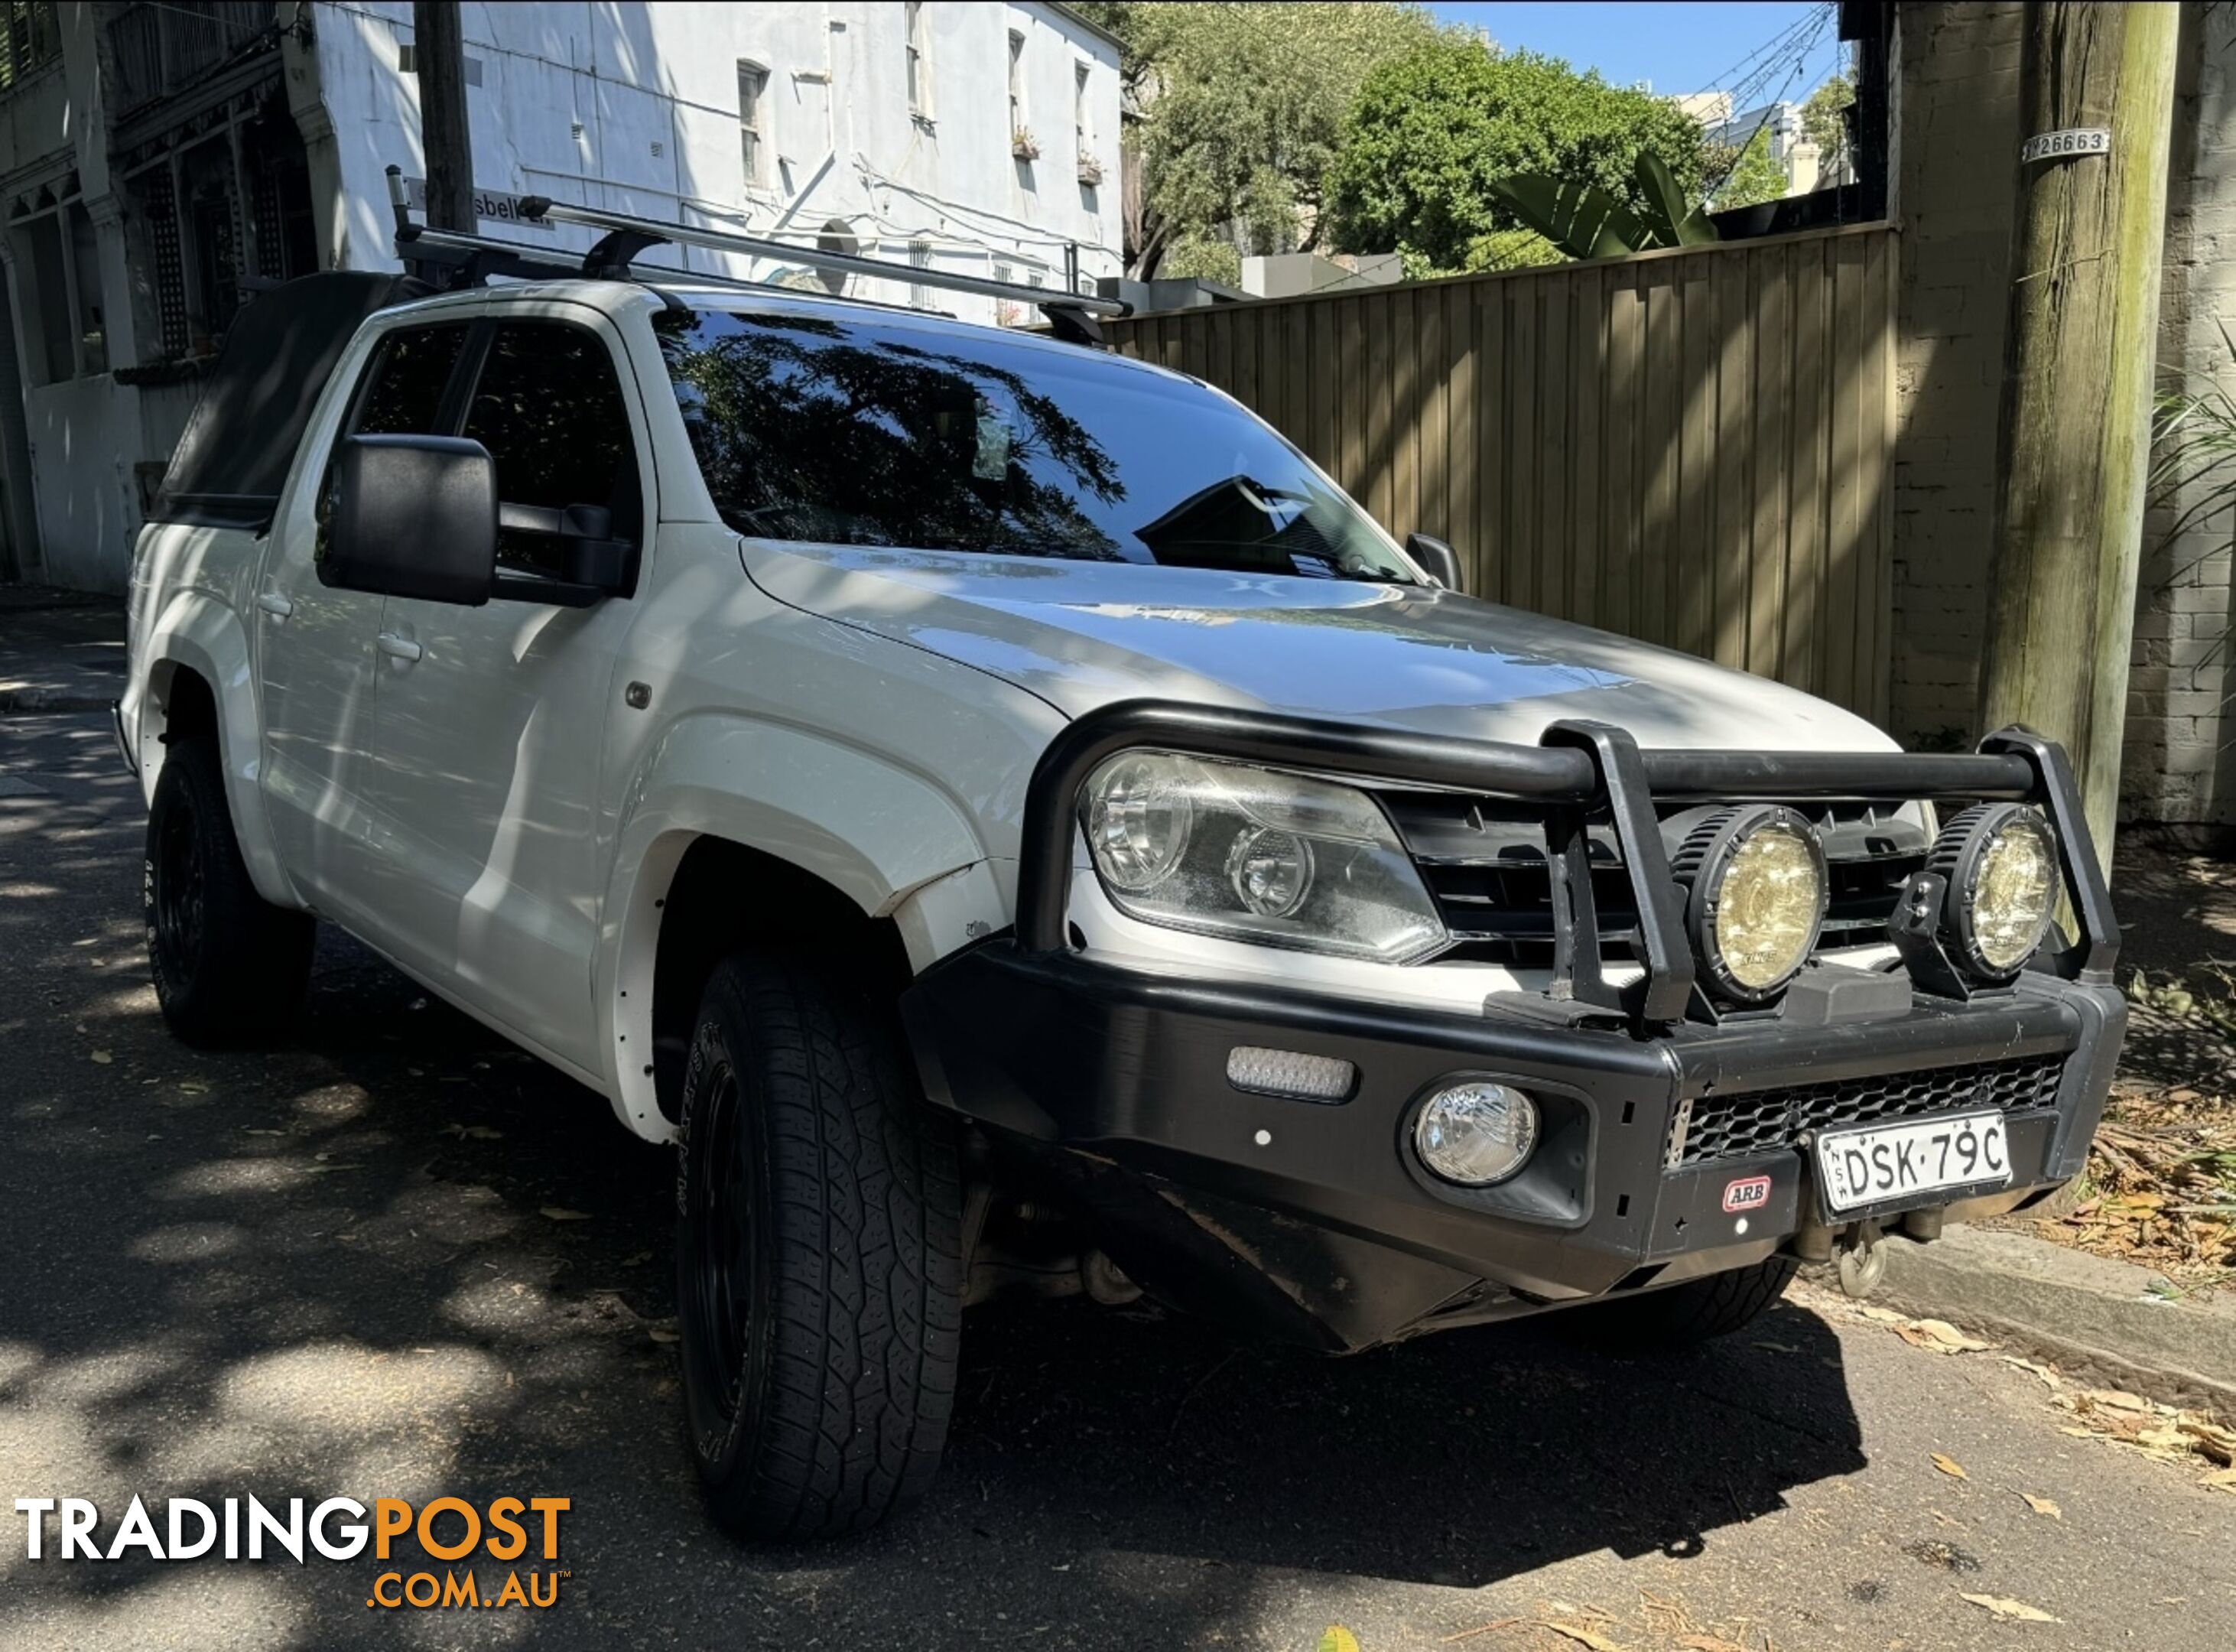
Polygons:
[[[1646,1364],[975,1310],[930,1504],[738,1547],[678,1442],[669,1153],[340,937],[284,1046],[170,1042],[139,836],[101,718],[0,718],[0,1648],[2236,1645],[2236,1498],[1813,1294]],[[389,1612],[373,1560],[25,1558],[13,1498],[107,1540],[132,1493],[566,1496],[568,1576]]]

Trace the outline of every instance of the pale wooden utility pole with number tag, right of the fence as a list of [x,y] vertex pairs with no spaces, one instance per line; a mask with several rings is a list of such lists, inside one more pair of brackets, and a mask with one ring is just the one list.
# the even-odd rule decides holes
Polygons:
[[2167,0],[2030,0],[2019,69],[2021,139],[2044,136],[2048,154],[2019,165],[1979,715],[1983,729],[2024,722],[2066,744],[2106,870],[2151,456],[2178,29],[2180,9]]

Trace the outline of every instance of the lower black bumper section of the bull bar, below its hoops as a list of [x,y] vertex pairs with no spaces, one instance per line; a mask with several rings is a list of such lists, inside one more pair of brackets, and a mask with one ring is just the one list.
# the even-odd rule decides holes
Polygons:
[[[930,1098],[1096,1225],[1160,1297],[1326,1348],[1740,1268],[1822,1221],[1804,1131],[2003,1107],[2012,1176],[1983,1214],[2071,1178],[2126,1026],[2115,988],[2030,975],[2006,995],[1916,995],[1831,1026],[1726,1022],[1659,1037],[1176,981],[991,941],[906,1004]],[[1337,1104],[1245,1093],[1228,1053],[1335,1055]],[[1440,1183],[1411,1149],[1458,1075],[1532,1091],[1543,1142],[1514,1180]],[[1679,1129],[1681,1124],[1681,1129]],[[1744,1214],[1737,1180],[1769,1178]]]

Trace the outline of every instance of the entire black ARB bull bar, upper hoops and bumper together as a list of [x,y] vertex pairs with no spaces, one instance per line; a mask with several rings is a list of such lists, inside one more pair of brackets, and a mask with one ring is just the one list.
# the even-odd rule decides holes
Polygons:
[[[1129,747],[1541,809],[1552,988],[1451,1015],[1167,979],[1073,950],[1080,789]],[[1775,1015],[1715,1013],[1695,988],[1659,811],[1840,798],[2039,805],[2077,919],[2071,946],[2012,988],[1979,990],[1936,939],[1945,879],[1916,874],[1887,928],[1903,986],[1858,995],[1851,977],[1807,1013],[1791,993]],[[1628,970],[1603,957],[1592,827],[1612,827],[1630,883]],[[1959,1218],[2066,1180],[2126,1026],[2117,946],[2071,765],[2024,729],[1977,753],[1641,751],[1594,722],[1556,722],[1520,747],[1127,702],[1067,727],[1033,771],[1015,934],[928,970],[903,1013],[928,1095],[984,1127],[1004,1174],[1051,1180],[1143,1285],[1230,1323],[1359,1348],[1742,1268],[1804,1232],[1820,1243],[1813,1129],[1997,1107],[2010,1180],[1914,1200]],[[1339,1104],[1245,1093],[1228,1084],[1237,1046],[1342,1057],[1359,1077]],[[1462,1189],[1415,1160],[1413,1109],[1456,1077],[1538,1098],[1538,1149],[1509,1183]]]

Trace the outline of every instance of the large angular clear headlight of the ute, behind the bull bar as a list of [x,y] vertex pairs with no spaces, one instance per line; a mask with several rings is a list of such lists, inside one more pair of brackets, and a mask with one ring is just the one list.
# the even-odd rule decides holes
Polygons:
[[1143,923],[1411,963],[1444,923],[1364,791],[1176,751],[1122,751],[1082,791],[1096,874]]

